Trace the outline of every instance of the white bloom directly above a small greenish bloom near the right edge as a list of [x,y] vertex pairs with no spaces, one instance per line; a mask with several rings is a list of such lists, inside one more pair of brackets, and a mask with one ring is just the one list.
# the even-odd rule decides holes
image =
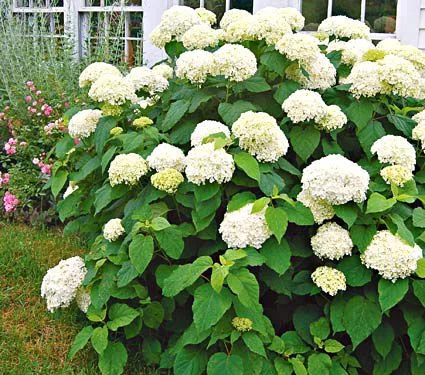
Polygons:
[[381,163],[402,165],[410,171],[415,169],[415,148],[404,137],[385,135],[375,141],[370,151],[378,156]]

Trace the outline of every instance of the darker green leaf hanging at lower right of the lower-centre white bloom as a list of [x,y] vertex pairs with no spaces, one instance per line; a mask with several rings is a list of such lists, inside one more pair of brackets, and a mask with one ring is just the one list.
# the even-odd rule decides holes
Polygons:
[[261,255],[266,258],[266,264],[279,275],[283,275],[291,266],[291,249],[286,240],[280,244],[275,239],[267,240],[261,247]]

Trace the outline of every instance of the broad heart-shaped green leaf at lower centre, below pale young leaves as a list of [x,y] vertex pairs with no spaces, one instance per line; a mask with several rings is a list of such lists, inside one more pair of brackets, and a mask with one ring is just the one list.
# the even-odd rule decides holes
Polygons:
[[216,324],[230,309],[232,295],[227,289],[217,293],[210,284],[199,286],[195,290],[192,305],[193,321],[199,331],[205,331]]

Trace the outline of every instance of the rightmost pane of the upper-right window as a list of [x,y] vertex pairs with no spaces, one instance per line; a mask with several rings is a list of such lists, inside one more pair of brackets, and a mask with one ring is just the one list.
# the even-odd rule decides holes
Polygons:
[[374,33],[394,33],[397,0],[367,0],[366,24]]

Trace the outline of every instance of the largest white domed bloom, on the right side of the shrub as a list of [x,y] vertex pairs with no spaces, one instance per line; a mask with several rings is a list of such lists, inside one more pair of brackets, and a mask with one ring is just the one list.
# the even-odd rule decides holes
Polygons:
[[358,164],[342,155],[328,155],[313,161],[303,170],[302,189],[314,199],[332,205],[366,199],[369,174]]

